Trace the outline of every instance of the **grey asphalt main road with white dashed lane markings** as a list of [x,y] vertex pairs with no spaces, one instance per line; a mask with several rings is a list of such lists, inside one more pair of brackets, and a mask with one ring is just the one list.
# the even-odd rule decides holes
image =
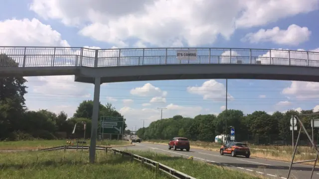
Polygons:
[[[280,162],[267,159],[258,159],[250,157],[249,159],[241,156],[231,157],[230,155],[221,156],[218,152],[190,149],[189,152],[185,150],[168,150],[166,145],[149,144],[149,143],[135,143],[132,147],[119,147],[120,150],[151,150],[157,153],[170,153],[172,156],[183,155],[185,157],[193,156],[194,160],[203,161],[213,165],[222,165],[230,169],[239,170],[242,172],[251,173],[254,175],[261,175],[270,179],[287,179],[289,171],[289,162]],[[315,158],[314,158],[315,159]],[[294,164],[289,179],[310,179],[312,166]],[[195,177],[195,176],[193,176]],[[319,179],[319,168],[315,169],[313,179]]]

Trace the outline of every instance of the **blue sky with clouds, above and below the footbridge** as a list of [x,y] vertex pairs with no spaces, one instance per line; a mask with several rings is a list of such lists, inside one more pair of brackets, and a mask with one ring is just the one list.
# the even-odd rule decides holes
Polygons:
[[[250,0],[233,0],[234,5],[229,5],[228,0],[188,4],[180,0],[140,0],[128,2],[132,8],[122,8],[112,0],[93,1],[4,0],[5,8],[0,12],[1,46],[222,47],[319,52],[319,25],[315,23],[319,17],[318,0],[278,0],[275,5],[269,0],[256,0],[253,5]],[[183,10],[174,9],[178,3]],[[32,110],[64,110],[72,116],[79,102],[93,99],[93,85],[75,83],[72,76],[27,79],[26,104]],[[215,86],[210,90],[187,90],[204,83]],[[140,128],[141,119],[147,119],[147,126],[160,118],[157,107],[167,108],[163,117],[218,114],[224,109],[225,100],[216,98],[225,96],[225,84],[221,79],[104,84],[100,100],[112,102],[125,115],[130,129]],[[309,82],[228,80],[228,93],[233,96],[228,108],[244,113],[318,110],[318,89],[319,84]],[[205,100],[204,95],[213,97]],[[153,97],[161,102],[150,102]]]

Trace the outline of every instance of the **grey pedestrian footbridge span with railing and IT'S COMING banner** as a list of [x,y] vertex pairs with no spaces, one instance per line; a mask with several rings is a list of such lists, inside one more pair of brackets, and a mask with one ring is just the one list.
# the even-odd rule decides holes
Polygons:
[[0,77],[75,75],[76,82],[93,84],[96,78],[100,83],[181,79],[319,82],[319,53],[307,51],[0,47],[0,54]]

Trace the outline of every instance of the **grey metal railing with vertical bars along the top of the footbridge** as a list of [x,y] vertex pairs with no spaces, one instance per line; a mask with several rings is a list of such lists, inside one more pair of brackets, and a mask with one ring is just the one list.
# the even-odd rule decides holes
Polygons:
[[[188,48],[0,47],[0,68],[113,67],[169,64],[250,64],[319,67],[318,52],[194,48],[197,50],[196,60],[178,60],[176,50],[180,49]],[[5,58],[12,59],[15,63],[8,61],[8,59],[5,60]],[[16,63],[18,64],[17,66],[15,65]]]

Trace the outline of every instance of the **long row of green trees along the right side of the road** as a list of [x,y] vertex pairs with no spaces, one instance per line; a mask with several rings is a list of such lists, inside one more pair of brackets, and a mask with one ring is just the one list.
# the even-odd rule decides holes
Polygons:
[[[241,110],[226,110],[218,115],[206,114],[197,115],[194,118],[175,115],[171,118],[161,119],[152,122],[148,127],[140,128],[137,135],[142,139],[163,139],[169,140],[173,137],[186,137],[190,140],[213,142],[216,135],[230,135],[231,127],[235,129],[236,141],[245,141],[256,144],[291,144],[292,131],[290,120],[292,115],[310,114],[313,110],[288,110],[287,112],[276,111],[272,115],[265,111],[255,111],[251,114],[244,114]],[[317,113],[317,112],[316,112]],[[299,117],[307,132],[311,135],[311,119],[317,116]],[[299,130],[300,125],[297,124]],[[318,131],[314,132],[316,138]],[[298,131],[295,131],[297,140]],[[307,135],[302,130],[302,141],[307,143]],[[228,140],[230,140],[228,138]],[[317,140],[315,140],[317,141]],[[307,143],[308,144],[308,143]]]

